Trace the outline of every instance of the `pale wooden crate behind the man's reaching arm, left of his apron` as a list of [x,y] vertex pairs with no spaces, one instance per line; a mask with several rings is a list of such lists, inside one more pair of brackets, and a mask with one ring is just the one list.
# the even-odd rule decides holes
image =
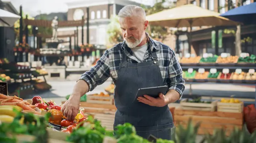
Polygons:
[[88,103],[97,104],[113,104],[113,95],[110,96],[97,96],[97,95],[87,95]]

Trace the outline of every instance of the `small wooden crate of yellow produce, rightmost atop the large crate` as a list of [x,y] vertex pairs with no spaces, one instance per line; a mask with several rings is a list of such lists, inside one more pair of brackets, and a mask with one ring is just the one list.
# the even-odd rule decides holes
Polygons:
[[243,110],[244,110],[244,102],[241,102],[241,103],[217,102],[217,111],[218,112],[242,113]]

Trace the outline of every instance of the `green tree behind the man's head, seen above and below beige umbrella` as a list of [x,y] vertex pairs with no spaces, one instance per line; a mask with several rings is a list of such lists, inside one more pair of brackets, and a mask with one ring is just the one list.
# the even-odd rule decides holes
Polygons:
[[[154,4],[154,6],[151,6],[151,7],[142,6],[142,7],[145,10],[146,15],[150,15],[150,14],[163,11],[165,9],[173,8],[174,5],[172,2],[169,2],[166,0],[162,0],[160,2],[159,0],[156,0],[156,3]],[[148,27],[147,32],[150,34],[150,36],[153,39],[162,39],[162,40],[164,40],[166,36],[169,34],[167,27],[153,26],[153,25],[150,25]]]

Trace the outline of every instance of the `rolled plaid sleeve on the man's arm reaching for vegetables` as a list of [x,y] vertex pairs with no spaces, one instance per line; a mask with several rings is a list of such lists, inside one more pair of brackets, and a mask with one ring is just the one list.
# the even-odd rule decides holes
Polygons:
[[79,80],[87,82],[89,91],[92,91],[97,85],[103,84],[109,77],[109,54],[108,50],[106,50],[104,55],[96,62],[96,65],[82,74]]

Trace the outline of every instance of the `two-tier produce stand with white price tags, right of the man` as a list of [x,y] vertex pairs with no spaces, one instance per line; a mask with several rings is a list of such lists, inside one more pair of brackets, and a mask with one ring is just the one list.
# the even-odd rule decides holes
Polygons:
[[[187,54],[180,59],[183,69],[183,78],[186,84],[237,84],[256,85],[256,56],[241,53],[240,56],[230,56],[229,53],[221,53],[221,56],[204,53],[203,57]],[[218,95],[211,95],[219,97]],[[230,95],[227,95],[229,97]],[[188,96],[186,96],[188,97]],[[221,98],[221,97],[220,97]],[[244,101],[245,105],[256,104],[254,97],[243,95],[250,101]]]

